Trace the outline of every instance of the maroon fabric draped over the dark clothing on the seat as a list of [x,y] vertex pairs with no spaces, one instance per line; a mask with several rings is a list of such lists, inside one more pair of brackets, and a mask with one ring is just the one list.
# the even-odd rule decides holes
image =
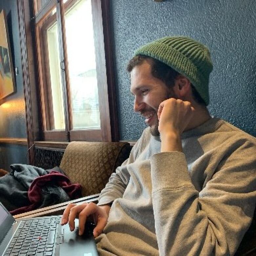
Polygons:
[[41,201],[41,190],[49,182],[61,187],[68,194],[70,199],[77,199],[81,197],[82,186],[80,184],[72,184],[69,178],[64,174],[52,171],[49,174],[37,177],[31,183],[28,191],[28,197],[31,204],[11,211],[11,214],[16,215],[37,209],[37,206]]

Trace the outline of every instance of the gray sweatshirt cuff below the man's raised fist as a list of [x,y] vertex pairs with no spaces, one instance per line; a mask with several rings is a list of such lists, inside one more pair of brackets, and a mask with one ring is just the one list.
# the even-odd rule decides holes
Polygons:
[[178,151],[155,154],[150,159],[152,192],[162,189],[194,187],[184,153]]

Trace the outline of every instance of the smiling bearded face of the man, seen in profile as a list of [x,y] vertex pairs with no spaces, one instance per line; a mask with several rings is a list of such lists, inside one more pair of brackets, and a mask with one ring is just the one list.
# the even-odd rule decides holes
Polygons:
[[151,66],[148,60],[135,66],[131,71],[131,93],[135,96],[134,111],[145,117],[153,136],[159,136],[158,107],[160,103],[174,97],[163,81],[151,75]]

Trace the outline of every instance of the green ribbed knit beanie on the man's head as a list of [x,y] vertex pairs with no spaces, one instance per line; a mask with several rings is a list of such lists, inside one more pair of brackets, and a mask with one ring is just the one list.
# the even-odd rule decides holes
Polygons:
[[168,36],[148,43],[135,51],[172,67],[186,76],[205,104],[209,104],[209,75],[213,69],[209,49],[184,36]]

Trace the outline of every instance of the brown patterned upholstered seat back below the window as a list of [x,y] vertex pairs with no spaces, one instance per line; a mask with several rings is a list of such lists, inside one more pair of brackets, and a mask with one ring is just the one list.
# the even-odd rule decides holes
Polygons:
[[67,146],[60,168],[72,183],[82,185],[82,195],[100,193],[118,165],[129,157],[127,142],[73,141]]

